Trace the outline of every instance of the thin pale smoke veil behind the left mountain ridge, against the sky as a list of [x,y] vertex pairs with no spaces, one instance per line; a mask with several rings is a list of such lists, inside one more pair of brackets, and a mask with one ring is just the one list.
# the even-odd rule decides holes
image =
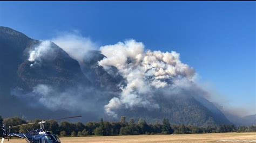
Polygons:
[[87,51],[97,49],[95,42],[79,34],[66,33],[53,38],[52,41],[78,62],[84,60]]

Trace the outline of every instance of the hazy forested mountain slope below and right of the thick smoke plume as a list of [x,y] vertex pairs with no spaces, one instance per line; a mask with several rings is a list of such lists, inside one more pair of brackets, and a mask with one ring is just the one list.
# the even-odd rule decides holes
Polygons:
[[[161,122],[163,118],[168,118],[172,124],[196,126],[232,124],[220,111],[215,113],[208,110],[192,96],[177,95],[170,96],[168,101],[164,98],[160,98],[160,100],[160,109],[145,110],[140,108],[119,113],[136,120],[143,118],[150,123]],[[212,103],[208,102],[208,104]]]

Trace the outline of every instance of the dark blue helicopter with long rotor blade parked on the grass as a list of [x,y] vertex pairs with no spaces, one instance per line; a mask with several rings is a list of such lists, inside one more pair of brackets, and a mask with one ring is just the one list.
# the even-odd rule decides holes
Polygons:
[[[66,118],[59,118],[53,120],[62,120],[62,119],[69,119],[69,118],[77,118],[82,116],[73,116],[73,117],[66,117]],[[60,143],[60,139],[57,135],[50,133],[50,131],[46,131],[44,129],[44,124],[49,121],[53,120],[42,120],[38,122],[28,123],[28,124],[21,124],[17,126],[9,126],[9,132],[6,132],[5,125],[3,125],[3,138],[1,143],[4,143],[5,138],[8,138],[8,141],[11,137],[17,137],[21,139],[25,139],[28,143]],[[39,124],[40,128],[37,130],[28,131],[28,133],[10,133],[11,128],[31,125],[31,124]]]

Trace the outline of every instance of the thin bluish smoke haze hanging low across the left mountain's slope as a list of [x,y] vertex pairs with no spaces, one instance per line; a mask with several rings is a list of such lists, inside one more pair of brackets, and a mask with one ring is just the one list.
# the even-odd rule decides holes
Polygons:
[[[33,87],[31,92],[24,94],[22,88],[15,88],[11,90],[11,94],[29,101],[36,100],[37,102],[30,102],[29,104],[31,106],[42,105],[52,111],[98,112],[102,109],[95,103],[103,104],[100,103],[100,97],[106,93],[96,91],[96,89],[89,87],[84,88],[79,85],[66,88],[65,90],[58,90],[52,85],[38,84]],[[92,94],[94,96],[90,98]]]

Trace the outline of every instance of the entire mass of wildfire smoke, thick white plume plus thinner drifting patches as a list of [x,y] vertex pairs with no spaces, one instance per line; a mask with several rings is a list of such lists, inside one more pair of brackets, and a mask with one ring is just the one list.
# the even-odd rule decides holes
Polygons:
[[[115,92],[80,85],[71,85],[70,88],[60,91],[51,85],[38,84],[28,94],[15,89],[12,90],[13,95],[36,99],[51,110],[102,111],[110,117],[118,117],[118,111],[122,109],[159,109],[156,97],[159,93],[165,99],[172,95],[211,96],[196,83],[196,72],[181,62],[177,52],[151,51],[146,49],[142,42],[133,39],[98,48],[95,42],[77,34],[60,35],[52,41],[71,58],[76,59],[80,66],[85,58],[90,57],[88,51],[99,49],[106,57],[98,61],[98,66],[110,73],[112,67],[118,69],[118,74],[125,79],[125,84],[118,85],[120,90]],[[36,64],[43,58],[54,58],[55,49],[52,45],[49,40],[42,41],[30,51],[28,60]],[[204,102],[200,97],[197,98]],[[212,106],[207,108],[213,109]]]

